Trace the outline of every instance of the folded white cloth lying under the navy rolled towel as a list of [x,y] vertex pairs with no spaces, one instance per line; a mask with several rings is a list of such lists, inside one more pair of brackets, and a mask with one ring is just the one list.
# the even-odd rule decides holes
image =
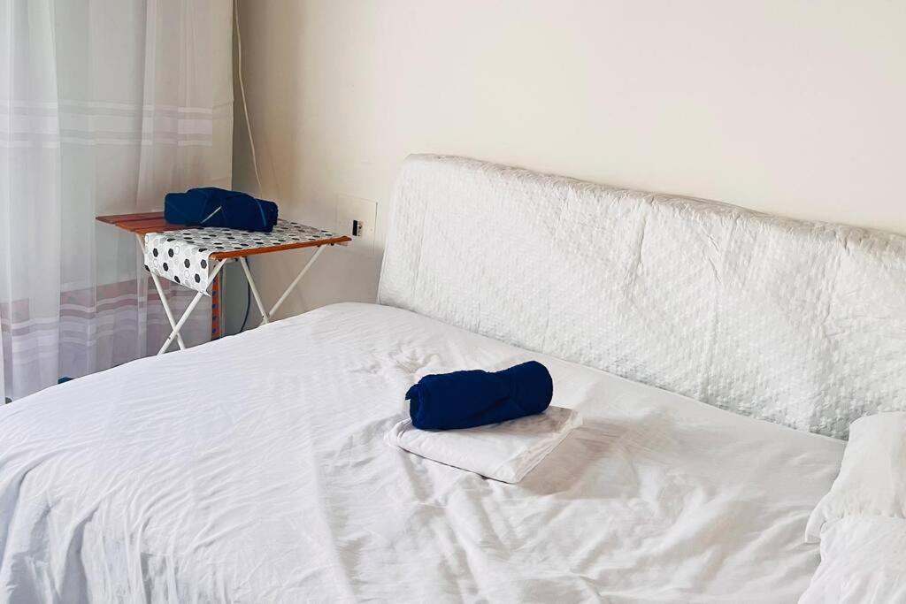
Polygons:
[[419,430],[405,419],[390,430],[387,442],[441,464],[515,484],[580,426],[582,417],[572,409],[547,407],[535,416],[462,430]]

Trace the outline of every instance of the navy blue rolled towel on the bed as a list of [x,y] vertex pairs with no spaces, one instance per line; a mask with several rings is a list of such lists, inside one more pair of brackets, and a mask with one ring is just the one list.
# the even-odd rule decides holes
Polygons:
[[503,371],[481,369],[425,376],[409,388],[412,425],[450,430],[535,415],[551,404],[554,380],[530,360]]

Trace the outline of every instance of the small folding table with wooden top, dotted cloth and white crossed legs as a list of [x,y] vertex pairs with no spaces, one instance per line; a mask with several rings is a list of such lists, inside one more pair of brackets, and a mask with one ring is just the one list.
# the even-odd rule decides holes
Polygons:
[[[164,313],[172,331],[158,350],[163,354],[175,340],[180,350],[186,348],[179,331],[186,324],[189,315],[208,293],[217,274],[229,262],[238,262],[246,273],[248,285],[255,298],[255,304],[261,312],[261,322],[270,322],[271,317],[284,303],[289,294],[302,281],[305,273],[312,267],[327,245],[346,244],[352,239],[346,235],[337,235],[330,231],[313,226],[294,223],[289,220],[278,220],[271,233],[257,233],[222,227],[200,227],[173,225],[164,219],[163,212],[143,212],[139,214],[120,214],[98,216],[97,220],[108,225],[117,226],[135,235],[139,250],[145,260],[145,268],[151,274],[151,281],[160,296]],[[296,274],[274,305],[267,310],[261,299],[255,279],[248,268],[246,258],[255,254],[269,254],[303,247],[316,247],[314,255]],[[196,292],[188,303],[186,311],[177,321],[170,309],[160,278],[163,277],[188,287]]]

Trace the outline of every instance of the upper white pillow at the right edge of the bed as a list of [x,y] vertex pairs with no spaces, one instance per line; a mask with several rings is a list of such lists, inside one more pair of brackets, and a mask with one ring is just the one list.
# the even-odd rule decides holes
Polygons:
[[906,413],[853,422],[840,474],[809,517],[805,541],[819,541],[826,524],[853,515],[906,518]]

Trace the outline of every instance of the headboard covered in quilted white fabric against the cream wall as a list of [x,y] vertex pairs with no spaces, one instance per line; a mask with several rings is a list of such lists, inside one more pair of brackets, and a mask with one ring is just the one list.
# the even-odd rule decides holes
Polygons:
[[828,436],[906,410],[903,235],[417,155],[379,302]]

